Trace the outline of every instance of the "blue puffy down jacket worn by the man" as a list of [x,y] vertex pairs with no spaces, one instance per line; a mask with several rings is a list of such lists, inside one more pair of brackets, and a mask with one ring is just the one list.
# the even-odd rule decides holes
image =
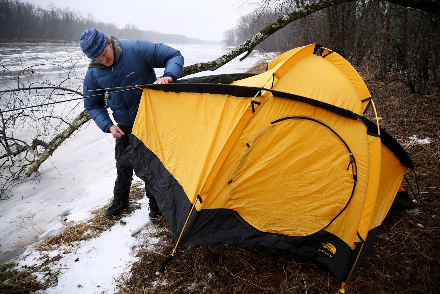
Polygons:
[[[153,84],[157,80],[154,68],[165,67],[163,77],[176,81],[183,69],[180,51],[161,43],[144,40],[117,40],[109,37],[114,45],[115,60],[111,66],[104,66],[91,60],[84,78],[84,108],[103,132],[110,132],[113,125],[104,100],[109,93],[107,104],[113,111],[114,120],[121,125],[132,126],[141,98],[141,89],[116,92],[124,89],[116,87]],[[92,96],[102,94],[98,96]]]

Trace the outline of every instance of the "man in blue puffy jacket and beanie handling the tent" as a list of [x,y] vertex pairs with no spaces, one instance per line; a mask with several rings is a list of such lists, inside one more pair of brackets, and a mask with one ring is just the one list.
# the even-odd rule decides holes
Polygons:
[[[128,195],[133,180],[133,168],[121,165],[120,157],[128,147],[128,134],[132,132],[142,90],[124,88],[145,84],[168,84],[180,77],[183,56],[180,51],[161,43],[144,40],[118,40],[98,29],[86,29],[80,37],[80,47],[91,59],[84,78],[84,108],[103,132],[116,139],[115,159],[117,177],[114,185],[114,201],[106,211],[113,217],[128,207]],[[165,67],[162,77],[156,78],[154,68]],[[119,88],[118,88],[119,87]],[[118,92],[121,91],[121,92]],[[104,94],[109,94],[107,101]],[[107,111],[113,111],[114,125]],[[147,183],[146,183],[147,184]],[[161,215],[156,200],[148,191],[150,220]]]

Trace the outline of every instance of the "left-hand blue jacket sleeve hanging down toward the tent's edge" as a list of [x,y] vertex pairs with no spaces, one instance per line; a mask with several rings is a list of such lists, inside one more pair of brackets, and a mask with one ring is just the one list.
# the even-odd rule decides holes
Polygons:
[[[93,82],[92,74],[88,71],[84,78],[84,91],[99,89],[100,87]],[[99,95],[101,94],[101,95]],[[110,115],[107,111],[106,102],[104,99],[105,91],[91,91],[84,92],[84,108],[88,115],[95,121],[99,129],[103,132],[110,132],[109,128],[113,125]],[[94,96],[97,95],[97,96]],[[92,97],[89,97],[92,96]]]

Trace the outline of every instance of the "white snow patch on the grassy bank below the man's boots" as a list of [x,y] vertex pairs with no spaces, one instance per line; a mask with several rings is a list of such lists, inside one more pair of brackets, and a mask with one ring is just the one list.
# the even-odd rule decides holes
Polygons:
[[[148,199],[143,198],[139,202],[147,207]],[[99,238],[79,242],[76,250],[52,266],[53,270],[62,272],[58,285],[41,293],[72,293],[72,289],[80,293],[116,292],[114,284],[121,273],[129,271],[139,247],[139,239],[133,237],[132,232],[150,222],[146,218],[146,211],[136,210],[123,218],[126,225],[116,224],[111,231],[100,233]]]

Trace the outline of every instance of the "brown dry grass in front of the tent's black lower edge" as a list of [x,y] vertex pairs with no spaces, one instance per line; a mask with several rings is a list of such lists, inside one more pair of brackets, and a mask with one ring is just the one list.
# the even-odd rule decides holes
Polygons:
[[154,226],[161,229],[150,236],[161,242],[143,246],[139,261],[120,281],[125,285],[120,293],[333,293],[340,286],[325,268],[304,258],[226,244],[184,246],[165,273],[156,275],[175,240],[163,218]]

